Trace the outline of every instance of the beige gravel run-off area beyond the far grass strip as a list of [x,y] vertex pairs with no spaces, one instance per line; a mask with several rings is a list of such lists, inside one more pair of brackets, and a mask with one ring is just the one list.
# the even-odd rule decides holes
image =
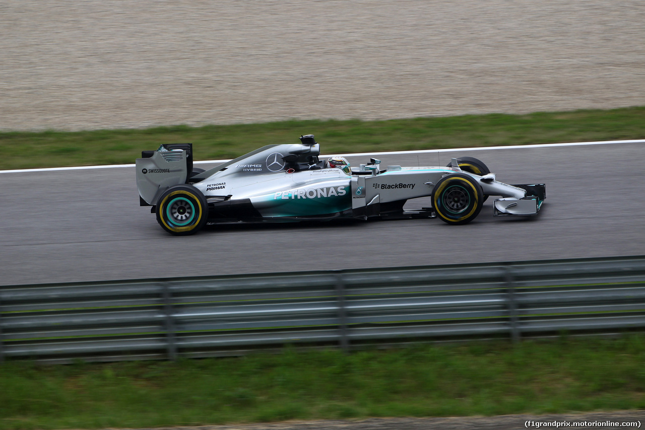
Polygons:
[[645,105],[642,0],[2,0],[0,130]]

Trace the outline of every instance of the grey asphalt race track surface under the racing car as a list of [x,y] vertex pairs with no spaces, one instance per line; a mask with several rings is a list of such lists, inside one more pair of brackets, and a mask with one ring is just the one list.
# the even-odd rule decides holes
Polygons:
[[383,166],[446,165],[464,155],[484,161],[500,181],[546,183],[539,216],[493,218],[487,201],[464,226],[439,220],[234,225],[174,237],[148,207],[139,207],[134,167],[0,172],[0,283],[645,254],[644,143],[379,158]]

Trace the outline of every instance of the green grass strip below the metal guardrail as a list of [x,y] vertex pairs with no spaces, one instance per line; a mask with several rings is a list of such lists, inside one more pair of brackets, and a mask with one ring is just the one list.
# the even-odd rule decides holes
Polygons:
[[645,337],[0,365],[0,429],[645,408]]

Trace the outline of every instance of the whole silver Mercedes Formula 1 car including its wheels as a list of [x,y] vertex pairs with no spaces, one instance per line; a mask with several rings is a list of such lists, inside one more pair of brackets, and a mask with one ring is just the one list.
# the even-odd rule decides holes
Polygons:
[[[142,206],[164,230],[192,234],[206,223],[436,218],[465,224],[488,196],[493,216],[531,216],[546,198],[544,184],[508,185],[476,158],[447,167],[330,167],[312,134],[301,143],[267,145],[210,170],[193,169],[192,144],[161,145],[137,158]],[[404,210],[407,200],[431,197],[431,207]]]

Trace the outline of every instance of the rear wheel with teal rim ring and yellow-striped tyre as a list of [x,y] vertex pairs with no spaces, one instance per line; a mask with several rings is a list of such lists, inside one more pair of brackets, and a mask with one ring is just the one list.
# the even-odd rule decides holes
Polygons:
[[208,218],[208,203],[204,194],[191,185],[170,187],[157,203],[157,222],[177,236],[194,234],[204,227]]

